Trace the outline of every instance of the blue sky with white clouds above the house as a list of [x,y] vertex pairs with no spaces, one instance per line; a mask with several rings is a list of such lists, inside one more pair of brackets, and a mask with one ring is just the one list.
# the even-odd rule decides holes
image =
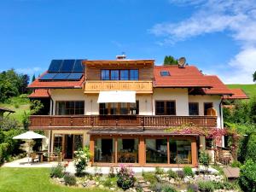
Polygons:
[[2,0],[0,70],[32,75],[52,59],[185,56],[225,83],[253,83],[255,0]]

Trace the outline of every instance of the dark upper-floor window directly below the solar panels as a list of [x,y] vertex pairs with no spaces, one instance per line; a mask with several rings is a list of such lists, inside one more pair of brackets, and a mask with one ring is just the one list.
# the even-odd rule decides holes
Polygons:
[[56,102],[57,115],[84,114],[84,101],[78,102]]

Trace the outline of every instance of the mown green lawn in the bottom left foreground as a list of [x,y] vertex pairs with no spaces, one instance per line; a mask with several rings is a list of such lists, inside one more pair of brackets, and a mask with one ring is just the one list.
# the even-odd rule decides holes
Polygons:
[[106,192],[61,186],[49,178],[49,168],[0,168],[0,192]]

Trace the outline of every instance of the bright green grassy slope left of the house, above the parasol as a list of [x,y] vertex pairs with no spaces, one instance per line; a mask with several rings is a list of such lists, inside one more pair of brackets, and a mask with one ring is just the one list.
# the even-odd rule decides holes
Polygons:
[[14,110],[15,113],[10,113],[9,117],[18,120],[18,122],[21,124],[24,111],[29,112],[29,99],[25,94],[20,96],[14,96],[9,98],[6,102],[0,103],[0,107]]

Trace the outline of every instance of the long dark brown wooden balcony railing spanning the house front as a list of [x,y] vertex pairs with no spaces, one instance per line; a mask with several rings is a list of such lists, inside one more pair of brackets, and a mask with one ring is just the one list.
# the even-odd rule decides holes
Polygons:
[[156,116],[156,115],[32,115],[30,129],[166,129],[192,123],[216,127],[216,116]]

